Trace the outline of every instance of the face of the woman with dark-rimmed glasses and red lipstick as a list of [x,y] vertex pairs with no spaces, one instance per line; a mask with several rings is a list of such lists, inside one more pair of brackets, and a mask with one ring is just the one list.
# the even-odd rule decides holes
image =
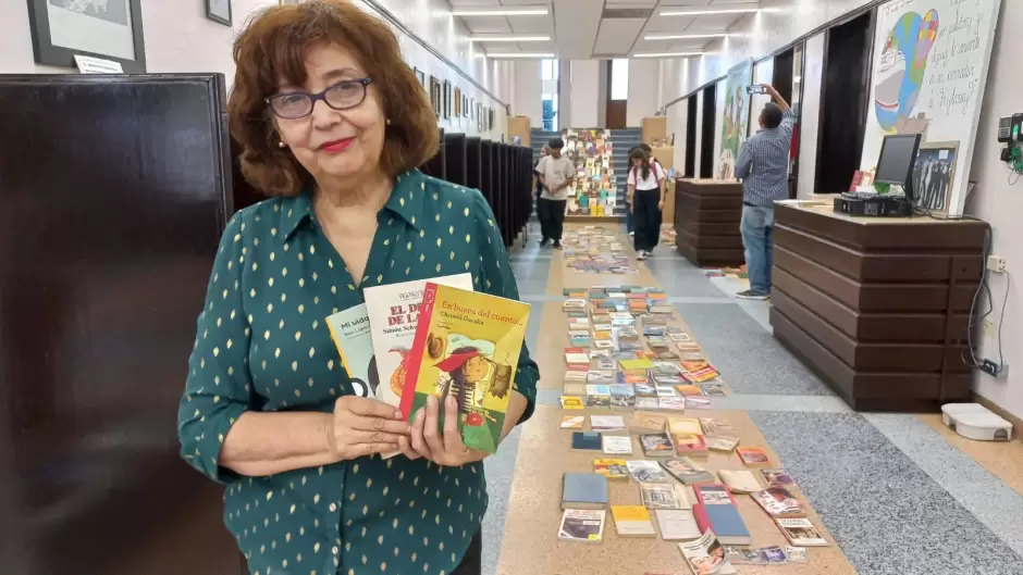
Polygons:
[[[355,55],[335,43],[318,45],[306,55],[306,85],[281,86],[281,92],[319,93],[344,80],[367,77]],[[366,99],[348,110],[317,101],[312,113],[297,120],[274,116],[278,132],[295,159],[318,182],[349,178],[378,168],[384,141],[383,103],[372,84]]]

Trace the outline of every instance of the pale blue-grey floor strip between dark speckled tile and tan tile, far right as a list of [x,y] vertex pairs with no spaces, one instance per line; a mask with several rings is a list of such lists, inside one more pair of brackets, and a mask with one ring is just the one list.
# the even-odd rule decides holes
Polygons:
[[864,417],[999,539],[1023,555],[1020,493],[914,415],[872,413]]

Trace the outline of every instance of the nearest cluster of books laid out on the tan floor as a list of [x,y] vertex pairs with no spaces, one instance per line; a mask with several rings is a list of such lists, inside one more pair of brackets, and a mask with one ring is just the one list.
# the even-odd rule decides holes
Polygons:
[[[584,418],[566,415],[563,428],[576,428],[579,417]],[[592,473],[564,475],[560,539],[600,542],[609,508],[618,537],[660,534],[665,541],[680,541],[679,551],[695,574],[735,573],[734,564],[805,561],[805,547],[828,545],[792,495],[796,488],[792,478],[784,470],[767,468],[768,459],[762,448],[738,448],[744,468],[717,472],[690,457],[678,457],[677,437],[699,435],[707,436],[707,440],[727,438],[738,443],[738,434],[729,422],[644,413],[633,414],[628,424],[621,416],[589,418],[590,430],[572,432],[572,449],[604,457],[594,458]],[[654,459],[619,459],[632,454],[633,435],[643,457]],[[717,451],[730,450],[722,446]],[[608,480],[634,484],[642,504],[609,501]],[[752,498],[774,520],[790,546],[749,547],[752,537],[739,512],[737,495]]]

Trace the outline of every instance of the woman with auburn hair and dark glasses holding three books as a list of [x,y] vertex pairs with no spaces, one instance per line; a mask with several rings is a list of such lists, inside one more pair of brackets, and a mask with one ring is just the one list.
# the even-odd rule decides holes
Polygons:
[[[348,1],[268,9],[234,59],[232,134],[246,179],[272,198],[221,240],[182,454],[225,486],[252,573],[478,574],[486,454],[439,429],[454,401],[408,423],[353,393],[324,318],[367,286],[465,272],[518,299],[494,215],[478,191],[417,170],[436,152],[433,112],[394,34]],[[505,434],[530,416],[538,377],[523,349]]]

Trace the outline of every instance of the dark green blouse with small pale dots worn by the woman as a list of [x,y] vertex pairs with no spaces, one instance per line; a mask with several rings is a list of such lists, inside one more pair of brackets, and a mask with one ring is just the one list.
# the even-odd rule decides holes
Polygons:
[[[482,463],[361,458],[269,477],[218,465],[224,436],[255,411],[332,411],[348,376],[324,318],[363,302],[362,286],[469,272],[478,291],[518,299],[494,215],[477,190],[418,171],[377,215],[355,282],[307,193],[232,217],[213,265],[178,413],[182,455],[225,485],[225,523],[251,573],[445,575],[486,511]],[[515,388],[533,410],[539,372],[523,348]]]

